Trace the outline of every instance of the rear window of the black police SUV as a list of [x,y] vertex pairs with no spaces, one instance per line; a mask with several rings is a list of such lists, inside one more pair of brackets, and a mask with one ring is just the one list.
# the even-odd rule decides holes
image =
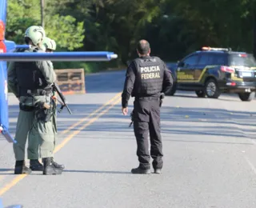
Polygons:
[[256,61],[252,54],[230,54],[230,66],[256,67]]

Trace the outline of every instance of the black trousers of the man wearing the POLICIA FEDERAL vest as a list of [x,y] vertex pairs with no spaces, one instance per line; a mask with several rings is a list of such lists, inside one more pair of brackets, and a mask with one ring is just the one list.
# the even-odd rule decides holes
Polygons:
[[[150,153],[148,136],[150,133]],[[139,166],[150,169],[150,156],[154,169],[162,168],[162,138],[160,130],[160,99],[135,98],[134,134],[137,140]]]

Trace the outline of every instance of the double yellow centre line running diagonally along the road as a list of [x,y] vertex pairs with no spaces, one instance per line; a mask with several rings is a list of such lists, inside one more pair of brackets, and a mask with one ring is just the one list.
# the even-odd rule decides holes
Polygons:
[[[75,135],[79,134],[83,129],[87,126],[90,126],[93,122],[97,121],[102,115],[106,114],[111,108],[118,104],[121,101],[121,93],[118,93],[111,98],[108,102],[104,105],[99,107],[97,110],[94,110],[91,114],[89,114],[86,118],[82,118],[80,121],[74,123],[74,125],[70,126],[67,130],[63,130],[61,134],[67,134],[70,130],[73,130],[76,126],[79,126],[83,122],[87,122],[81,126],[78,130],[72,132],[72,134],[68,135],[58,146],[55,147],[54,153],[57,153],[58,150],[61,150],[63,146],[66,145],[67,142],[74,138]],[[102,110],[102,111],[101,111]],[[101,111],[101,112],[100,112]],[[25,178],[27,174],[19,174],[15,177],[10,183],[7,183],[6,186],[0,189],[0,196],[5,194],[6,191],[10,190],[11,187],[15,186],[18,182],[20,182],[23,178]]]

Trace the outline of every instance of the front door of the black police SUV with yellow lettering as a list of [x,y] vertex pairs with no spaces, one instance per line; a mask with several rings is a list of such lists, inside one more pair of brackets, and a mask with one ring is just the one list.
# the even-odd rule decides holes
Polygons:
[[183,85],[194,82],[194,70],[198,66],[198,54],[191,54],[178,63],[177,81]]

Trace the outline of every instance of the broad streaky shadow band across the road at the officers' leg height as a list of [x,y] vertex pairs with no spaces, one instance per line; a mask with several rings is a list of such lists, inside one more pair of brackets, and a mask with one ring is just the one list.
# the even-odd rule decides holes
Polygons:
[[[58,132],[66,130],[74,123],[86,118],[101,105],[73,105],[70,104],[73,114],[67,110],[58,114]],[[130,108],[131,110],[132,108]],[[10,106],[10,118],[18,117],[18,106]],[[105,109],[103,109],[105,110]],[[252,126],[256,126],[256,114],[247,111],[234,111],[210,108],[182,108],[162,106],[162,133],[163,134],[190,134],[211,135],[239,138],[256,138]],[[81,129],[85,120],[73,130]],[[186,125],[187,123],[187,125]],[[107,114],[82,131],[109,131],[109,132],[133,132],[133,126],[129,128],[130,116],[121,114],[120,106],[114,106]],[[16,122],[10,121],[10,133],[14,133]],[[1,138],[0,138],[1,139]]]

